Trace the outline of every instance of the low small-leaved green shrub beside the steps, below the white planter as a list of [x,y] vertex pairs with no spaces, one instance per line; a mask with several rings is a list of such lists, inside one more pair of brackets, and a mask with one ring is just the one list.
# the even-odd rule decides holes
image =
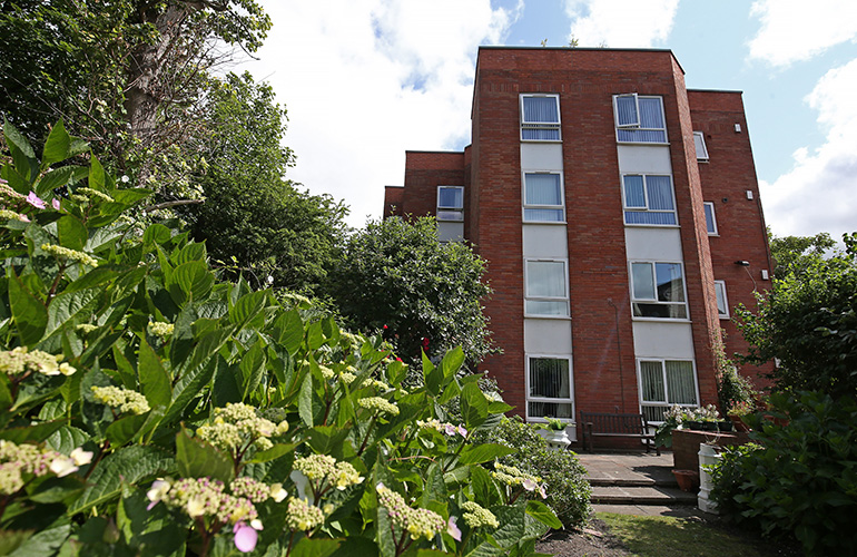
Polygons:
[[585,478],[587,470],[573,451],[548,449],[548,442],[535,427],[524,423],[520,417],[502,419],[483,436],[486,441],[514,449],[515,452],[502,457],[500,462],[539,476],[545,482],[545,502],[564,526],[577,526],[589,518],[592,489]]

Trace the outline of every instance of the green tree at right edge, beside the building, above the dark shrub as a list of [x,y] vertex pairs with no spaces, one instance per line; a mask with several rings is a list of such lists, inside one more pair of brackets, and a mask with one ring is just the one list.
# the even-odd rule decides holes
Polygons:
[[776,359],[778,390],[857,395],[857,236],[843,238],[844,253],[806,260],[799,273],[774,280],[756,313],[737,312],[750,343],[743,360]]

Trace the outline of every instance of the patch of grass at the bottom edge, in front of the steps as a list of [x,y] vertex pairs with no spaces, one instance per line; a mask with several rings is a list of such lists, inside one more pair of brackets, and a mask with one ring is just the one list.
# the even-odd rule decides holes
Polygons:
[[598,512],[610,534],[640,557],[768,557],[778,555],[758,537],[699,519]]

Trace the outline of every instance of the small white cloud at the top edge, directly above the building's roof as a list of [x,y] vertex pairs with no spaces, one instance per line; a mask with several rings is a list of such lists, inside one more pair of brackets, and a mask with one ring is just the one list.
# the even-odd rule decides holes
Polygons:
[[565,0],[581,47],[648,48],[670,35],[679,0]]

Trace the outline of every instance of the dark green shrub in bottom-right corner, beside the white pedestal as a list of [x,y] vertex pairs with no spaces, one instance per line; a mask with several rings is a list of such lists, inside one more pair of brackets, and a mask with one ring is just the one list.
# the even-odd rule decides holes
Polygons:
[[[765,535],[792,535],[810,555],[853,555],[857,516],[857,401],[774,394],[748,418],[758,446],[727,450],[712,497]],[[846,535],[847,532],[847,535]]]

